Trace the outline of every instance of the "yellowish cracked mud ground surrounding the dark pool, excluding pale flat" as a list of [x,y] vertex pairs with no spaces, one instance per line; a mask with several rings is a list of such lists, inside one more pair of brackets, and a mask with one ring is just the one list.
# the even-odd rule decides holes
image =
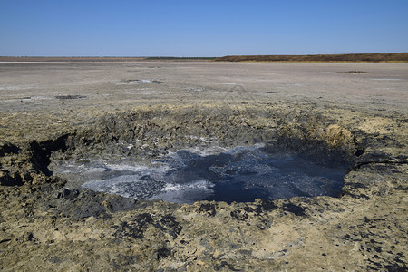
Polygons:
[[[406,268],[403,117],[314,105],[169,105],[55,127],[38,140],[1,142],[4,269]],[[47,168],[52,157],[148,160],[258,141],[350,161],[343,196],[175,205],[66,188]]]

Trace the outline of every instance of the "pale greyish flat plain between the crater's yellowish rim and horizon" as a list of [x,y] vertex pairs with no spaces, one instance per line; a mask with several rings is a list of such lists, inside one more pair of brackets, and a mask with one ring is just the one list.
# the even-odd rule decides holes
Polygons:
[[407,86],[408,63],[0,63],[0,111],[64,108],[69,105],[55,96],[85,95],[75,105],[115,109],[234,98],[405,112]]

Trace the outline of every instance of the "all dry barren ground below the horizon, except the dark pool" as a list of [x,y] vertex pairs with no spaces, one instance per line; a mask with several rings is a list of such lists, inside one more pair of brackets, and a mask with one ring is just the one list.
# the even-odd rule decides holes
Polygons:
[[[407,72],[406,63],[0,63],[0,268],[405,271]],[[81,189],[49,168],[257,142],[350,163],[342,195],[173,204]]]

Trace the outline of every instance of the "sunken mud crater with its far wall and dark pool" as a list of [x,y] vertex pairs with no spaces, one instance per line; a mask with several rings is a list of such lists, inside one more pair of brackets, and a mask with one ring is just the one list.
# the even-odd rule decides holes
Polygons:
[[[351,154],[341,145],[305,139],[298,131],[284,134],[267,123],[243,125],[248,112],[226,119],[223,115],[231,112],[222,110],[213,121],[197,120],[205,118],[198,112],[185,113],[107,116],[88,131],[68,137],[65,150],[52,152],[49,170],[71,188],[141,200],[231,203],[338,197],[355,154],[362,152]],[[252,115],[265,117],[265,112]]]

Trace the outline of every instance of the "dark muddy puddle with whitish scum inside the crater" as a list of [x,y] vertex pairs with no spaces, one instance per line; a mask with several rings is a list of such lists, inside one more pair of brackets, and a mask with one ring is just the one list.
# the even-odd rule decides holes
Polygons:
[[337,197],[347,172],[346,166],[322,165],[300,154],[270,151],[264,144],[180,150],[155,158],[149,165],[129,159],[121,163],[63,160],[54,165],[53,172],[79,180],[85,189],[189,204]]

